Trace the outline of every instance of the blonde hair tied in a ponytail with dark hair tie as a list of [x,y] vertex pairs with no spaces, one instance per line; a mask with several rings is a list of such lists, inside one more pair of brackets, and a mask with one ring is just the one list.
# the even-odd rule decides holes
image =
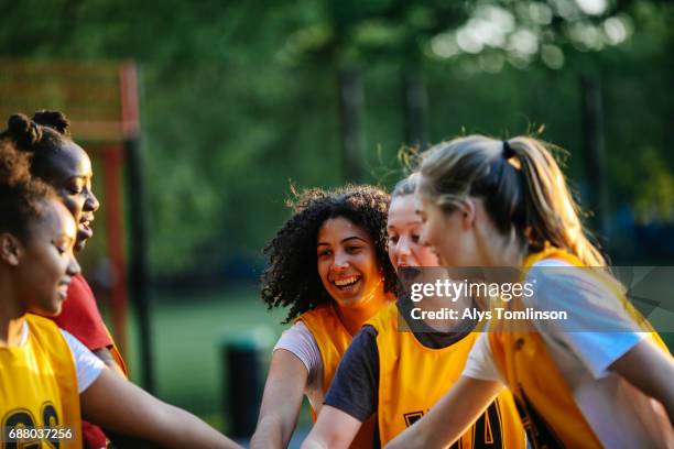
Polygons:
[[446,211],[474,196],[504,236],[537,252],[547,245],[576,255],[588,266],[606,260],[590,242],[557,162],[546,143],[518,136],[507,141],[469,135],[441,143],[422,158],[420,194]]

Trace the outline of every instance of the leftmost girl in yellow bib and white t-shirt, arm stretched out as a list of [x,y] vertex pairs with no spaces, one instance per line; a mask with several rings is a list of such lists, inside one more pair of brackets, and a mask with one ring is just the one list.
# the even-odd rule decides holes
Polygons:
[[8,140],[0,141],[0,446],[81,448],[86,416],[161,447],[238,447],[112,373],[43,317],[61,311],[79,272],[77,225]]

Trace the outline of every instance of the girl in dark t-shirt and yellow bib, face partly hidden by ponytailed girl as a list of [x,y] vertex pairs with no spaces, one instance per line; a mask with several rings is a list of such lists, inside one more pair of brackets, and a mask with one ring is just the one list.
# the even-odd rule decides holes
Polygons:
[[[437,274],[437,258],[421,244],[421,218],[414,212],[417,175],[391,194],[388,217],[389,259],[401,276]],[[420,270],[427,267],[427,270]],[[406,270],[406,271],[405,271]],[[382,445],[421,418],[452,386],[478,336],[472,320],[405,322],[409,300],[399,299],[370,319],[354,338],[303,448],[346,448],[377,415]],[[437,309],[447,304],[425,298]],[[464,432],[461,448],[524,448],[524,432],[512,395],[502,392],[479,421]]]

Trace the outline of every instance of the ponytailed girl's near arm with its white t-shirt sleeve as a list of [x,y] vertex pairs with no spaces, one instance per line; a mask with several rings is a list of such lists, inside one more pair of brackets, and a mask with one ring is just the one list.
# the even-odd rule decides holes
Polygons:
[[587,270],[548,269],[540,271],[537,278],[539,299],[551,308],[567,309],[570,317],[564,325],[550,321],[544,338],[563,341],[595,379],[609,371],[624,377],[659,401],[674,423],[672,357],[642,332],[612,291]]

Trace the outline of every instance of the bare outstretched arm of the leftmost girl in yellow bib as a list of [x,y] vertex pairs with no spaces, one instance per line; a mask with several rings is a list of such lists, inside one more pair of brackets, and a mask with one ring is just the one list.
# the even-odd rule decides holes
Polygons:
[[87,420],[162,447],[239,447],[191,413],[159,401],[109,370],[104,370],[79,398]]

